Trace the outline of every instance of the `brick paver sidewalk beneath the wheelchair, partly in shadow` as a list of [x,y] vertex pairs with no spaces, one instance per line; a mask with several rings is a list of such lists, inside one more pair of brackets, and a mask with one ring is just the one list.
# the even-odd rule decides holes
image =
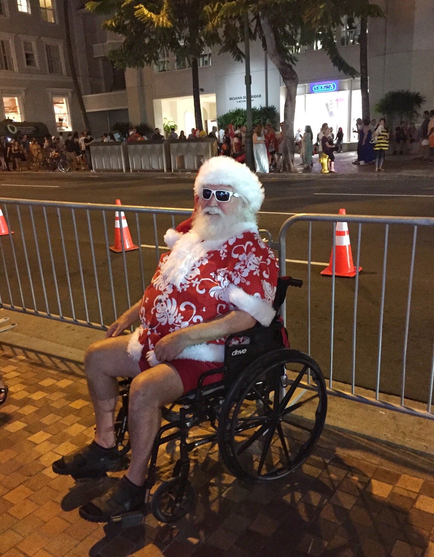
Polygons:
[[[83,375],[6,354],[0,374],[9,385],[0,408],[4,557],[434,556],[434,460],[327,428],[302,469],[269,486],[243,485],[216,447],[197,449],[195,514],[175,525],[152,515],[128,530],[81,520],[86,492],[115,481],[76,485],[51,471],[93,435]],[[162,452],[160,477],[174,450]]]

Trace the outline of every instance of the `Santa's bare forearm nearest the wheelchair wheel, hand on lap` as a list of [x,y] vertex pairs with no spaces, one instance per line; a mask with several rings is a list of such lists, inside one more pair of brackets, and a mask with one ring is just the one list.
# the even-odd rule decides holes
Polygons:
[[254,317],[242,310],[234,310],[205,323],[198,323],[164,336],[155,345],[155,355],[159,361],[171,361],[182,350],[193,344],[206,343],[233,333],[250,329],[255,325]]

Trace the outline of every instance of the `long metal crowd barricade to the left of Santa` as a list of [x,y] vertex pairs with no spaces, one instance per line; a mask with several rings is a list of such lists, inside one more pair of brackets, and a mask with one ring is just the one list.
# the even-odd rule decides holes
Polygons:
[[[0,307],[100,330],[143,295],[168,249],[163,233],[192,213],[8,198],[0,207],[9,229],[0,237]],[[110,251],[119,210],[136,251],[125,251],[122,234],[122,252]],[[153,243],[142,243],[150,237]]]

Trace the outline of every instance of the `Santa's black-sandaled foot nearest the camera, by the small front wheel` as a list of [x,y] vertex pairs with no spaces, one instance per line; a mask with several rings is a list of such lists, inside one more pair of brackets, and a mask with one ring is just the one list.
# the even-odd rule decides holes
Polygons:
[[108,522],[114,516],[138,510],[143,505],[144,492],[144,486],[136,486],[123,476],[104,495],[80,507],[79,514],[90,522]]

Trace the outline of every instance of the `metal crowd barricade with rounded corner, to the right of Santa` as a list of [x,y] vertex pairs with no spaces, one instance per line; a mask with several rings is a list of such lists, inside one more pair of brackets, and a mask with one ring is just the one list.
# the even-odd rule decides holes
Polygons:
[[[392,409],[394,411],[413,414],[415,416],[421,416],[428,419],[434,419],[434,413],[431,412],[432,408],[432,394],[434,386],[434,346],[429,348],[432,356],[430,369],[427,370],[429,377],[426,384],[426,395],[424,398],[427,404],[426,411],[418,410],[409,407],[408,400],[406,404],[406,379],[407,379],[407,350],[408,350],[408,339],[409,339],[409,322],[411,314],[411,300],[412,300],[412,289],[413,289],[413,276],[414,276],[414,260],[416,255],[416,243],[417,243],[417,231],[419,227],[434,227],[434,218],[413,218],[413,217],[383,217],[383,216],[357,216],[357,215],[336,215],[336,214],[297,214],[285,221],[279,231],[278,243],[274,243],[273,247],[277,248],[279,251],[279,275],[286,275],[286,262],[287,260],[287,232],[290,227],[299,222],[308,223],[308,246],[307,246],[307,352],[311,353],[311,321],[312,321],[312,305],[311,305],[311,284],[312,284],[312,223],[314,222],[330,222],[333,224],[333,236],[332,236],[332,276],[331,276],[331,310],[330,310],[330,354],[329,354],[329,378],[327,379],[328,388],[327,391],[331,395],[337,397],[346,398],[350,400],[355,400],[356,402],[363,402],[366,404],[371,404],[380,408]],[[351,384],[350,392],[343,390],[342,388],[337,388],[334,379],[334,334],[335,334],[335,295],[336,295],[336,276],[335,276],[335,264],[336,264],[336,223],[337,222],[347,222],[348,224],[354,223],[358,224],[358,237],[357,237],[357,247],[355,256],[355,270],[356,275],[354,279],[354,303],[353,303],[353,323],[352,323],[352,339],[351,339]],[[355,393],[356,388],[356,332],[358,329],[358,292],[359,292],[359,265],[360,265],[360,242],[361,242],[361,232],[363,224],[381,224],[384,226],[384,250],[382,253],[382,279],[381,279],[381,294],[379,301],[379,323],[378,323],[378,351],[377,351],[377,365],[375,370],[375,385],[372,390],[374,394],[373,397],[364,396]],[[408,273],[408,289],[407,289],[407,301],[406,301],[406,312],[405,312],[405,325],[404,325],[404,341],[402,346],[402,368],[400,373],[400,383],[401,388],[399,389],[399,403],[387,402],[385,400],[380,400],[380,377],[382,370],[382,351],[384,349],[383,344],[383,325],[384,325],[384,300],[386,291],[386,276],[387,276],[387,257],[388,257],[388,246],[389,246],[389,227],[392,225],[406,225],[412,227],[412,247],[411,247],[411,258]],[[331,239],[331,238],[330,238]],[[317,264],[317,263],[315,263]],[[321,280],[330,280],[324,277]],[[348,281],[348,278],[342,278],[343,281]],[[348,283],[347,283],[348,284]],[[286,304],[281,307],[281,315],[283,319],[286,319]],[[325,331],[324,331],[325,332]],[[389,348],[389,347],[388,347]],[[342,382],[340,382],[342,383]],[[358,385],[360,386],[360,385]],[[306,389],[315,390],[315,385],[310,382],[300,387]],[[424,391],[425,393],[425,391]],[[384,398],[384,397],[383,397]],[[419,399],[418,399],[419,400]]]

